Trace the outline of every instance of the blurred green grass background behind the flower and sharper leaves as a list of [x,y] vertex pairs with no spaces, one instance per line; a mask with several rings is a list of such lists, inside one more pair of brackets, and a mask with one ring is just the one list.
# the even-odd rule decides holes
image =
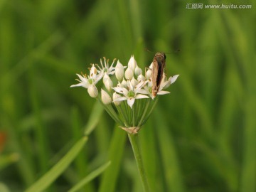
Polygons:
[[[198,3],[252,9],[186,9]],[[103,56],[127,65],[134,54],[144,68],[148,48],[169,52],[168,75],[181,75],[139,135],[152,191],[255,192],[255,22],[254,1],[1,0],[1,186],[23,191],[82,137],[97,101],[70,89],[75,73]],[[82,191],[142,190],[127,136],[103,112],[48,191],[67,191],[109,159]]]

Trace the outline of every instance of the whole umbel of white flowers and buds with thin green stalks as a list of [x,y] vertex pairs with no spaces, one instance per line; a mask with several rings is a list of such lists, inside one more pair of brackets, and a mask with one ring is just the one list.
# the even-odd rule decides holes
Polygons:
[[[143,75],[142,69],[137,65],[134,56],[130,58],[128,67],[123,66],[114,60],[109,65],[109,60],[104,58],[104,63],[100,60],[100,65],[92,64],[89,68],[89,75],[78,75],[78,84],[70,87],[85,87],[90,97],[99,100],[110,117],[114,119],[119,126],[130,134],[137,134],[139,129],[154,109],[158,95],[170,93],[166,91],[172,83],[176,81],[178,75],[163,79],[157,92],[156,98],[152,95],[151,66],[147,68]],[[104,87],[98,94],[97,82],[102,80]]]

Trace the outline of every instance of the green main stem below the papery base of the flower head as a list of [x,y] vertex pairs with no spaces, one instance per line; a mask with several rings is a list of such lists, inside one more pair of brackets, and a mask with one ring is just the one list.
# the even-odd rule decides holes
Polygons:
[[137,166],[139,169],[139,175],[142,179],[142,184],[143,184],[143,188],[145,192],[149,192],[149,183],[147,181],[146,178],[146,172],[142,163],[142,153],[140,151],[140,147],[139,147],[139,138],[138,138],[138,134],[128,134],[129,137],[129,141],[132,144],[132,150],[134,152],[134,156],[137,162]]

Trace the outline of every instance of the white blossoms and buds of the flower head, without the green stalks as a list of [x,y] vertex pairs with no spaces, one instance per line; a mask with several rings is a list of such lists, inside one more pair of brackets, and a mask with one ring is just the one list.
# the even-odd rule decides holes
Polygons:
[[[110,105],[113,102],[114,105],[118,106],[122,101],[127,100],[127,104],[132,109],[136,99],[151,98],[154,100],[151,82],[152,64],[146,70],[145,75],[143,75],[142,69],[137,65],[134,56],[130,58],[128,67],[124,67],[119,60],[115,67],[113,67],[114,60],[109,66],[108,61],[109,60],[104,58],[104,64],[102,63],[102,60],[100,60],[101,65],[93,64],[90,68],[90,75],[77,74],[79,83],[71,85],[71,87],[85,87],[90,97],[97,97],[98,90],[96,84],[102,79],[107,90],[105,91],[101,89],[101,101],[104,105]],[[115,87],[110,75],[115,75],[117,78],[117,85]],[[175,82],[177,78],[178,75],[174,75],[167,79],[164,74],[157,95],[170,93],[164,91],[164,89]]]

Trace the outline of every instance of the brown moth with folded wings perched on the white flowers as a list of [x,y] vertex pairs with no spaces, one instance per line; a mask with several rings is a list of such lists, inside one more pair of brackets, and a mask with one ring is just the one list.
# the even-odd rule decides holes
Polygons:
[[156,97],[164,74],[166,55],[164,53],[156,53],[153,58],[152,65],[152,96]]

